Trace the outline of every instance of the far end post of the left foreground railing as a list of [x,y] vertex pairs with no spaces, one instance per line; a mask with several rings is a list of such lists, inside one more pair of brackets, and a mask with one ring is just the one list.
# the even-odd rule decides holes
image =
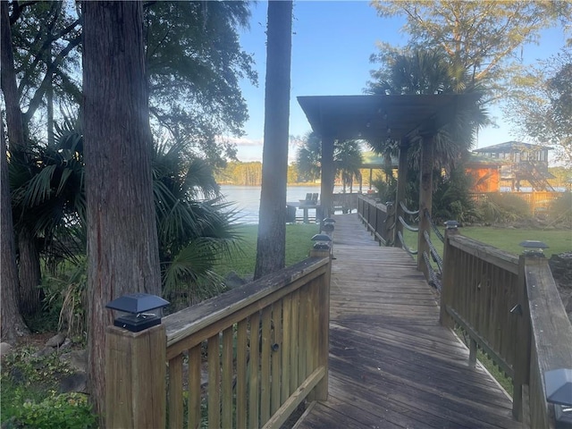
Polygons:
[[309,400],[328,399],[328,357],[330,355],[330,281],[332,277],[332,255],[329,250],[312,249],[311,257],[329,257],[330,263],[322,276],[318,291],[318,349],[317,367],[324,366],[325,374],[322,380],[316,384],[313,393],[308,396]]

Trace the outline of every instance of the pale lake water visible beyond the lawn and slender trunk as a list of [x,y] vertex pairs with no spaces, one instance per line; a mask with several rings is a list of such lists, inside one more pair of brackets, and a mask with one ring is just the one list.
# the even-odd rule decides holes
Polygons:
[[[333,189],[341,192],[341,188]],[[221,192],[227,202],[234,203],[234,208],[240,217],[240,223],[258,223],[258,209],[260,208],[259,186],[221,185]],[[319,194],[320,185],[315,186],[289,186],[286,189],[286,201],[299,201],[306,198],[306,194]],[[296,217],[302,217],[302,210],[298,209]]]

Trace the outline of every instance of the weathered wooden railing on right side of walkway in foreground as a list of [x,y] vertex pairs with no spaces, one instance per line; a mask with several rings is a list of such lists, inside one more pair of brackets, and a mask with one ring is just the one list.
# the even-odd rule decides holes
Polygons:
[[572,368],[572,326],[542,254],[516,257],[446,230],[441,321],[470,338],[470,363],[481,349],[512,379],[518,420],[557,427],[544,374]]

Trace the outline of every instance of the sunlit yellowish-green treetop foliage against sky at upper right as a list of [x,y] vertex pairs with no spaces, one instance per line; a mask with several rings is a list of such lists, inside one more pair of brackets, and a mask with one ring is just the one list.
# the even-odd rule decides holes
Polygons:
[[[559,18],[568,21],[572,12],[569,2],[374,0],[372,5],[383,18],[405,18],[409,47],[438,49],[492,93],[500,91],[503,78],[517,69],[518,46],[534,42],[541,29]],[[388,46],[380,45],[380,50]]]

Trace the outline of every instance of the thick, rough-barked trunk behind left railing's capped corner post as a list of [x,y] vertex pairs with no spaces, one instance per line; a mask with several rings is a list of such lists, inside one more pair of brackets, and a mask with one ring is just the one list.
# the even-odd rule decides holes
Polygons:
[[105,304],[127,293],[159,295],[161,278],[142,4],[84,1],[82,8],[88,388],[101,415],[105,413],[105,327],[113,323]]

